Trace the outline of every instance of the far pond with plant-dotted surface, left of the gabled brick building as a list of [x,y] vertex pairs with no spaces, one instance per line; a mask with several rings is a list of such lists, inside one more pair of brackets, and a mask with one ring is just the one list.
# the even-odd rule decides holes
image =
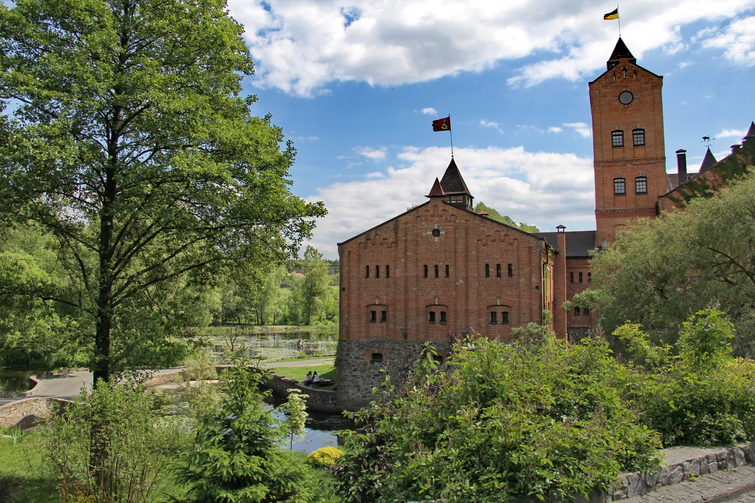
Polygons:
[[335,354],[338,328],[322,330],[282,330],[278,327],[207,327],[197,331],[214,342],[214,351],[220,353],[230,339],[235,347],[245,345],[247,356],[263,360],[295,357],[304,351],[307,356]]

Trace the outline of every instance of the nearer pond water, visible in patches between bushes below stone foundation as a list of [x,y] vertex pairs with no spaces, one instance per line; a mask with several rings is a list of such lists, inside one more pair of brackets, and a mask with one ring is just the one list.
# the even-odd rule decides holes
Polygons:
[[[180,385],[162,385],[158,386],[155,391],[157,394],[156,406],[163,414],[180,416],[188,413]],[[273,410],[273,417],[280,420],[285,419],[285,415],[276,409],[277,406],[285,402],[285,399],[273,394],[265,402]],[[309,454],[320,447],[337,446],[339,439],[335,432],[354,428],[354,423],[341,414],[320,413],[315,410],[308,410],[307,413],[309,416],[305,423],[304,437],[294,439],[292,447],[294,451],[304,451]],[[289,443],[285,442],[285,448],[288,449],[288,446]]]

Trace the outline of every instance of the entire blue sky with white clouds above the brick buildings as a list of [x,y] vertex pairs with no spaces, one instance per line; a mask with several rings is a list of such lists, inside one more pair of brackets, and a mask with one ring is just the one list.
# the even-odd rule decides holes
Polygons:
[[[232,0],[257,66],[256,112],[297,148],[294,193],[325,201],[312,244],[336,243],[425,201],[455,159],[476,201],[553,230],[595,228],[587,82],[618,23],[606,2]],[[667,170],[701,137],[717,158],[755,119],[755,0],[620,6],[641,66],[664,75]],[[437,113],[436,113],[437,112]]]

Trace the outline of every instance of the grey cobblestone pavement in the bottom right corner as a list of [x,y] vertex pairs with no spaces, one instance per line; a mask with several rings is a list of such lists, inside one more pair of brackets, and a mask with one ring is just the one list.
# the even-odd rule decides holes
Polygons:
[[[627,501],[627,503],[660,503],[661,501],[663,503],[670,501],[697,503],[752,483],[755,483],[755,466],[747,465],[728,471],[716,471],[715,474],[701,475],[694,481],[687,480],[673,486],[661,487],[657,491],[624,501]],[[755,491],[747,492],[729,501],[732,503],[755,503]]]

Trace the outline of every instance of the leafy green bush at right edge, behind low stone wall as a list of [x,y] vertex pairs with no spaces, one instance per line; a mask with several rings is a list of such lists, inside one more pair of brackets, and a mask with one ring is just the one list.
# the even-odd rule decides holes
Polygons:
[[698,311],[684,322],[676,356],[668,345],[651,345],[637,325],[614,335],[639,357],[627,397],[664,446],[735,443],[755,435],[755,363],[732,357],[734,330],[722,312]]

